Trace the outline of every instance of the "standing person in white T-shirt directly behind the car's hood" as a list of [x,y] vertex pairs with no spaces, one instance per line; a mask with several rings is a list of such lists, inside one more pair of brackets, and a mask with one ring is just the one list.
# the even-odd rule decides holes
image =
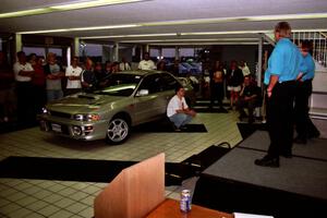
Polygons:
[[65,76],[68,78],[65,95],[72,95],[78,93],[82,88],[81,76],[83,70],[77,64],[78,64],[78,58],[74,57],[72,60],[72,65],[65,69]]

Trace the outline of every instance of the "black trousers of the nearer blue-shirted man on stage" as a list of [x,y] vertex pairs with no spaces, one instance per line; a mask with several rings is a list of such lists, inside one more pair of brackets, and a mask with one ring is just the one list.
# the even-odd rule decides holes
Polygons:
[[277,83],[267,98],[267,128],[270,137],[268,156],[291,154],[293,142],[293,101],[295,82]]

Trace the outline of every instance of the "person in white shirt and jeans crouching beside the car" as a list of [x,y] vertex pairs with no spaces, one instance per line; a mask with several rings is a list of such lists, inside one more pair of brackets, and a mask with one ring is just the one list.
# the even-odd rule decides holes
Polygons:
[[185,129],[185,125],[196,116],[196,112],[189,108],[184,96],[185,89],[182,86],[178,86],[175,88],[175,95],[170,99],[167,106],[167,117],[173,122],[175,131]]

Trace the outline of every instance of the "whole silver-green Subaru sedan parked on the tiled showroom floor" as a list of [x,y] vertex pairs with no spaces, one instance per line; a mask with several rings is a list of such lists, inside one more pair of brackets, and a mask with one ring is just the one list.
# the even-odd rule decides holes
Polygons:
[[168,72],[124,71],[106,81],[105,87],[49,102],[39,116],[40,129],[76,140],[121,144],[131,126],[165,118],[178,85],[184,86],[186,98],[194,99],[192,86]]

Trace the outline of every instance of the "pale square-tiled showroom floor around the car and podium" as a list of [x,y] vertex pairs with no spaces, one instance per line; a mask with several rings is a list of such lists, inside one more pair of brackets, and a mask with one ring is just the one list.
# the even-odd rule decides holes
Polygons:
[[[167,162],[180,162],[213,144],[237,145],[238,113],[198,113],[192,123],[203,123],[207,133],[133,133],[123,145],[104,141],[77,142],[52,136],[38,128],[0,135],[0,160],[10,156],[140,161],[159,153]],[[191,178],[183,186],[194,185]],[[59,180],[0,179],[0,217],[93,217],[93,204],[107,183]],[[166,195],[179,196],[181,186],[166,186]]]

